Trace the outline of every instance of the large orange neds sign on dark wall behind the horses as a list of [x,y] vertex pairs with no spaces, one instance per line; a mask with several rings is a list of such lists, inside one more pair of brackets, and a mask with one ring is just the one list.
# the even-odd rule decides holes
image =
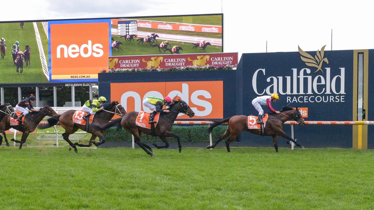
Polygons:
[[[176,95],[195,112],[193,119],[223,118],[223,81],[178,81],[111,83],[111,101],[119,101],[127,112],[151,112],[142,102],[148,96]],[[189,118],[179,114],[178,118]]]

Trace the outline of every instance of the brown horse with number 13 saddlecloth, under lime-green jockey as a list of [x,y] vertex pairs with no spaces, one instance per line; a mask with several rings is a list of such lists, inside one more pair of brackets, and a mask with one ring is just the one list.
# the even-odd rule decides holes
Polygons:
[[[83,146],[83,147],[90,147],[92,143],[95,146],[99,146],[102,143],[105,143],[105,138],[102,136],[102,131],[93,128],[93,126],[89,126],[88,133],[91,133],[91,139],[88,145],[79,144],[78,142],[75,142],[74,144],[70,141],[69,135],[77,132],[78,129],[85,130],[86,126],[77,124],[73,122],[73,115],[76,110],[69,110],[64,112],[61,115],[57,115],[54,117],[49,118],[47,121],[48,123],[45,125],[38,126],[39,129],[46,129],[49,127],[54,126],[58,122],[60,122],[60,125],[65,129],[65,133],[62,134],[65,141],[69,143],[69,150],[71,148],[74,148],[74,152],[78,152],[77,146]],[[82,113],[82,112],[80,112]],[[113,101],[110,104],[107,104],[104,106],[104,109],[102,111],[97,112],[94,117],[92,123],[98,123],[98,124],[104,124],[108,123],[111,118],[113,118],[114,114],[124,116],[126,114],[125,108],[121,104],[119,104],[117,101]],[[83,116],[81,116],[83,117]],[[87,118],[88,120],[88,118]],[[99,139],[102,139],[102,141],[95,142],[96,136],[99,137]]]

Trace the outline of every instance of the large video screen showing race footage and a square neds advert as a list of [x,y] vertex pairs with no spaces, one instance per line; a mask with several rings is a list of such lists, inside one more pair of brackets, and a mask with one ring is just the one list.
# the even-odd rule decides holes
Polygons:
[[223,52],[222,32],[222,14],[0,22],[0,84],[95,82],[108,56]]

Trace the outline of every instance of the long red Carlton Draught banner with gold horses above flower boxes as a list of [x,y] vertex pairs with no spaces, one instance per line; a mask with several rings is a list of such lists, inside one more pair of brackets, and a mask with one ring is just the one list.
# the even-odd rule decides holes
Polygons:
[[237,53],[111,56],[108,59],[108,69],[170,68],[205,65],[233,65],[236,67],[237,63]]

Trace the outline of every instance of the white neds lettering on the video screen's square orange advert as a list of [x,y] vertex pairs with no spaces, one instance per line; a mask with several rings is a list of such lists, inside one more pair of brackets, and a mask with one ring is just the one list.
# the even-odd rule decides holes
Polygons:
[[88,44],[82,44],[80,47],[77,44],[71,44],[69,47],[67,47],[65,44],[60,44],[57,46],[57,58],[61,58],[61,51],[63,52],[65,58],[67,58],[68,55],[71,58],[77,58],[79,55],[83,58],[88,58],[91,55],[97,58],[104,55],[104,51],[102,49],[102,44],[96,43],[92,45],[91,40],[88,40]]

